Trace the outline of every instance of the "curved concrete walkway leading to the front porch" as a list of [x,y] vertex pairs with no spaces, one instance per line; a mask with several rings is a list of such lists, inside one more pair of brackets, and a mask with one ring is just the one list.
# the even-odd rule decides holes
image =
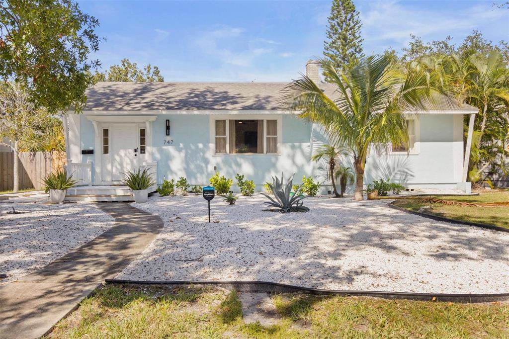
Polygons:
[[138,256],[163,227],[128,204],[98,204],[115,226],[40,270],[0,287],[0,338],[38,338],[104,279]]

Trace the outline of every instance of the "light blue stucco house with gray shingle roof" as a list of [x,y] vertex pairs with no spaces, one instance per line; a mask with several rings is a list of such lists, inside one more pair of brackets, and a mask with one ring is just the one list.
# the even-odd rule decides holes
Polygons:
[[[318,65],[306,73],[320,80]],[[65,122],[69,170],[88,185],[68,195],[127,195],[122,173],[149,166],[157,183],[186,177],[206,185],[220,172],[266,181],[284,172],[300,180],[314,175],[323,192],[331,189],[322,166],[310,161],[326,142],[320,126],[281,109],[284,82],[99,82],[87,91],[81,114]],[[332,84],[322,83],[332,94]],[[409,115],[410,150],[390,148],[367,159],[365,182],[390,178],[408,188],[465,189],[463,117],[477,109],[458,105],[447,111]],[[390,147],[390,146],[389,146]],[[297,181],[298,181],[297,180]],[[155,187],[153,188],[155,189]],[[235,187],[233,188],[235,189]],[[101,199],[96,199],[101,200]]]

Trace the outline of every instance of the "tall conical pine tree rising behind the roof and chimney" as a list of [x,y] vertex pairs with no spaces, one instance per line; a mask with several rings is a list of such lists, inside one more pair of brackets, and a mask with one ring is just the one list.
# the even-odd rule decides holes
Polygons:
[[[360,37],[359,12],[352,0],[332,0],[324,55],[337,70],[345,70],[359,63],[364,57]],[[326,79],[327,80],[327,79]]]

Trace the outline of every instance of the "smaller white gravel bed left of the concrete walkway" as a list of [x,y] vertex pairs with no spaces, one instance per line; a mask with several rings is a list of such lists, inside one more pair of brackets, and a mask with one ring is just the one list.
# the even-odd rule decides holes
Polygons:
[[[0,273],[8,276],[0,284],[47,265],[114,224],[94,204],[39,201],[40,197],[0,200]],[[21,213],[7,214],[12,207]]]

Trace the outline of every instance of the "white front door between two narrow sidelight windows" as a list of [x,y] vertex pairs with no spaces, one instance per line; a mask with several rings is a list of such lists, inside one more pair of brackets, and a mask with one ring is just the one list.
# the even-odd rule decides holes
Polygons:
[[110,124],[111,181],[121,181],[127,171],[138,168],[137,124]]

